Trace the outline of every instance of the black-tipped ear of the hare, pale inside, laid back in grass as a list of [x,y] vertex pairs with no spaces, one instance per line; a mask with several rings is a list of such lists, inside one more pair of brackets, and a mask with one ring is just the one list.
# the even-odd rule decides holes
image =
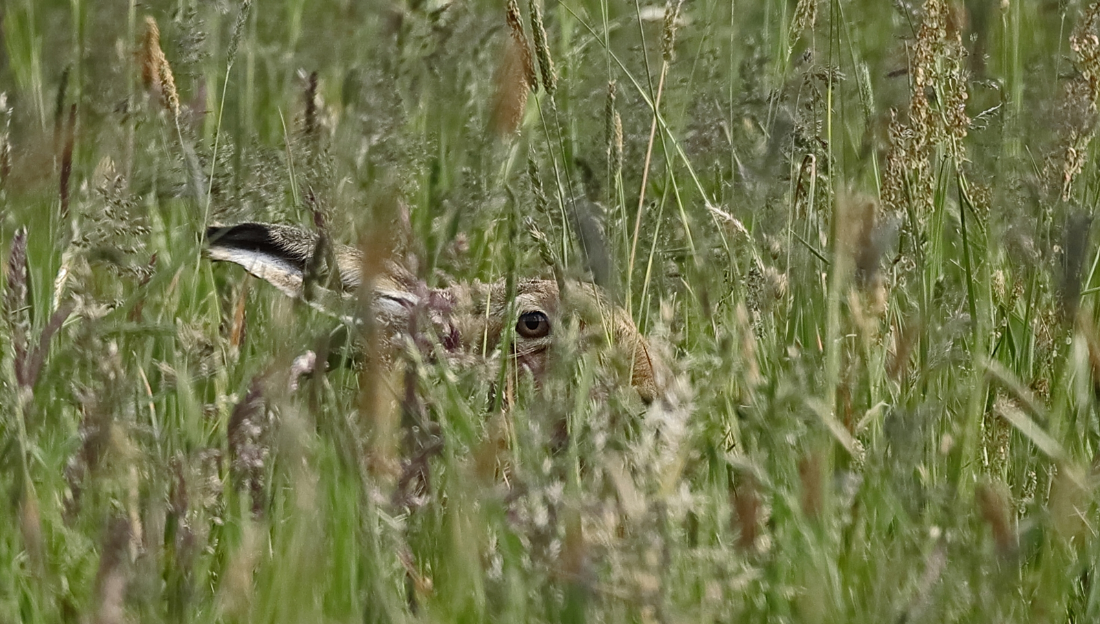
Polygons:
[[271,223],[207,228],[207,255],[232,262],[271,283],[289,297],[301,296],[302,274],[317,237],[306,230]]

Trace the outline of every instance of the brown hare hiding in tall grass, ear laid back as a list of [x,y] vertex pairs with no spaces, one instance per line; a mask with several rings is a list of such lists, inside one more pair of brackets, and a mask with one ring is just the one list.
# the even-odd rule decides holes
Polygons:
[[[246,222],[208,228],[206,238],[210,260],[238,264],[289,297],[332,307],[318,302],[314,293],[306,296],[307,284],[319,281],[308,277],[319,264],[317,234],[292,226]],[[363,254],[352,247],[332,245],[329,258],[337,269],[329,282],[338,293],[323,296],[353,297],[363,287]],[[391,349],[400,349],[409,338],[420,340],[422,333],[416,327],[426,318],[443,352],[455,361],[492,355],[514,325],[509,355],[536,382],[548,370],[556,331],[575,319],[582,337],[602,336],[625,350],[631,360],[630,383],[642,401],[651,403],[660,396],[663,366],[629,315],[612,305],[600,288],[569,282],[562,293],[554,281],[519,280],[514,299],[508,300],[507,292],[505,281],[428,288],[400,265],[387,262],[371,276],[370,314]]]

